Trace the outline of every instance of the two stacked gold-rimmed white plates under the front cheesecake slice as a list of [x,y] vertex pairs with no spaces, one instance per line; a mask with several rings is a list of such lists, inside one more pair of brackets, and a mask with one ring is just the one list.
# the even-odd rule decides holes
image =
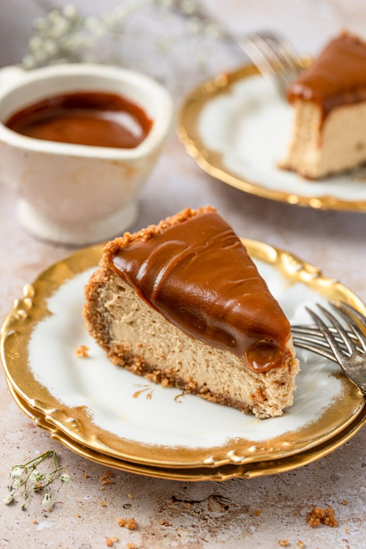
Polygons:
[[[351,290],[282,250],[243,240],[291,323],[305,305],[341,299],[362,313]],[[102,245],[66,257],[24,288],[2,326],[1,354],[16,404],[70,450],[108,467],[176,480],[252,478],[311,463],[366,422],[365,399],[340,368],[298,351],[294,405],[257,419],[228,406],[138,377],[113,365],[88,334],[83,288]],[[88,356],[77,356],[80,345]]]

